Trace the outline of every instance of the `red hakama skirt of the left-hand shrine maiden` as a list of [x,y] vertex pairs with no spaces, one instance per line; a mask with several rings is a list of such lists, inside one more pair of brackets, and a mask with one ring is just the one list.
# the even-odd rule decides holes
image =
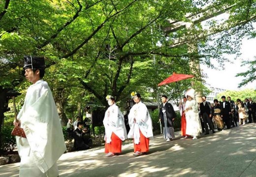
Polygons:
[[105,143],[105,153],[121,153],[122,151],[122,140],[112,132],[111,142]]

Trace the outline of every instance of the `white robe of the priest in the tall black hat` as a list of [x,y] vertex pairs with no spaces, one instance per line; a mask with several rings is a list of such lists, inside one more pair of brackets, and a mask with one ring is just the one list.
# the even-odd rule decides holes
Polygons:
[[60,118],[47,82],[27,90],[18,120],[27,138],[16,137],[21,156],[19,177],[57,177],[57,160],[66,150]]

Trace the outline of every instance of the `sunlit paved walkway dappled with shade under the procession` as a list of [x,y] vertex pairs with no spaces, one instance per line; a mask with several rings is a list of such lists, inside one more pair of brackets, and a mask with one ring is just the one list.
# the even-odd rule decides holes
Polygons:
[[[256,177],[256,124],[165,142],[156,136],[150,153],[133,157],[126,143],[119,156],[103,148],[63,154],[60,177]],[[19,163],[0,166],[0,177],[18,177]]]

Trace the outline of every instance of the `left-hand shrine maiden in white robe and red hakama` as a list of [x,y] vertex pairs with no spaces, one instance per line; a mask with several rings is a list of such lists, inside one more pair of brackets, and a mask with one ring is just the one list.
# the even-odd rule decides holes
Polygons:
[[105,113],[103,124],[105,127],[105,153],[111,157],[121,153],[122,141],[127,139],[124,116],[115,103],[115,98],[107,95],[109,108]]

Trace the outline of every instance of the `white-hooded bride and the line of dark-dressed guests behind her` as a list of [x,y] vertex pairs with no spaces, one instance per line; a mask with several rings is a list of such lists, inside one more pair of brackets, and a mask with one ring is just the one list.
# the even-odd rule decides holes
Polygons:
[[[231,100],[230,96],[222,96],[222,101],[214,100],[214,104],[206,101],[202,96],[202,102],[197,105],[194,100],[194,89],[189,89],[180,103],[181,135],[185,138],[192,136],[196,139],[200,133],[209,134],[209,130],[222,131],[246,123],[256,123],[256,103],[252,98]],[[167,140],[168,141],[168,140]]]

